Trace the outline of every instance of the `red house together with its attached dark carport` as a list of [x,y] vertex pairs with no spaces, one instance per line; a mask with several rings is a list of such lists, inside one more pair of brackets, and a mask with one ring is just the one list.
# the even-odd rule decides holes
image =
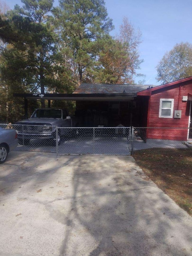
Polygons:
[[[13,94],[41,99],[40,94]],[[44,94],[48,100],[76,101],[81,127],[147,127],[142,139],[192,141],[192,77],[160,86],[81,84],[72,94]],[[79,119],[80,120],[80,119]]]

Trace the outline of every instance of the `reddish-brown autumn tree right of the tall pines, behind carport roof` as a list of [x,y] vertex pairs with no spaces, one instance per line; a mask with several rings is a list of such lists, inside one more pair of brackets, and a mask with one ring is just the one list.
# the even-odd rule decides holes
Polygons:
[[135,31],[128,19],[124,18],[120,34],[115,39],[105,36],[97,40],[99,50],[94,80],[97,83],[132,84],[136,77],[145,77],[137,73],[143,62],[138,53],[140,43],[140,30]]

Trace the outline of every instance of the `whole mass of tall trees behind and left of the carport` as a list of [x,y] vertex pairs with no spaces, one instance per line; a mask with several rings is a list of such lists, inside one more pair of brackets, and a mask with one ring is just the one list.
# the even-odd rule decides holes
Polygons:
[[[13,99],[13,93],[72,93],[80,83],[132,83],[140,76],[141,33],[125,18],[120,35],[112,38],[104,0],[59,0],[56,8],[53,0],[21,2],[6,14],[0,11],[3,120],[24,114],[22,100]],[[39,104],[29,101],[29,116]],[[41,106],[46,104],[42,99]],[[75,109],[69,101],[52,106]]]

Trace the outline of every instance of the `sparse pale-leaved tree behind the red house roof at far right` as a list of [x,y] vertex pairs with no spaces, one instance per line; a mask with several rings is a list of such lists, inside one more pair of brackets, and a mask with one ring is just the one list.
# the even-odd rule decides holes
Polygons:
[[192,76],[192,44],[176,44],[165,53],[156,69],[156,80],[161,81],[161,84]]

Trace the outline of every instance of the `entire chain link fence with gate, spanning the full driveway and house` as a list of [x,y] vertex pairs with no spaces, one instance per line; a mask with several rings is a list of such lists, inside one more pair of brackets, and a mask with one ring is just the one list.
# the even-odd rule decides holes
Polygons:
[[[192,148],[192,128],[67,127],[0,124],[18,134],[16,150],[57,155],[130,155],[140,149]],[[188,140],[187,138],[191,139]]]

